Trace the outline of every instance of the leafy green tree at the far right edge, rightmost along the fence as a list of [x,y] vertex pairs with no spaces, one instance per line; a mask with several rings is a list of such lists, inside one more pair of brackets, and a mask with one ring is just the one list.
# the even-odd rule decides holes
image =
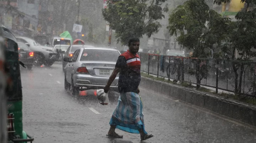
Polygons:
[[[215,0],[214,3],[220,5],[222,2],[229,2],[229,0]],[[233,60],[232,67],[235,74],[235,93],[241,93],[242,76],[245,72],[245,67],[252,57],[256,56],[256,52],[252,48],[256,48],[256,8],[249,11],[250,5],[255,5],[255,0],[241,0],[245,2],[244,10],[238,12],[235,16],[236,21],[226,21],[220,26],[225,27],[223,31],[225,38],[223,39],[222,51]],[[236,57],[236,51],[239,56]],[[235,62],[239,60],[242,62]],[[240,73],[238,70],[240,68]],[[239,78],[239,79],[238,79]]]

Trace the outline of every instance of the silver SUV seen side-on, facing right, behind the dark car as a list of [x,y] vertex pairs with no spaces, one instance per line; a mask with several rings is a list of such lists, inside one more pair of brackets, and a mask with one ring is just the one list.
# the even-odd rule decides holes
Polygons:
[[41,66],[42,64],[51,66],[59,58],[58,49],[42,46],[35,40],[27,37],[17,36],[16,39],[18,42],[25,43],[34,52],[35,66]]

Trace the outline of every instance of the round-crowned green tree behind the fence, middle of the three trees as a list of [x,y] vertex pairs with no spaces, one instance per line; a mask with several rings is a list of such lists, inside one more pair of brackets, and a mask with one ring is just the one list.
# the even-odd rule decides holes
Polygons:
[[[208,24],[207,24],[208,23]],[[223,28],[216,27],[223,23],[220,15],[210,10],[204,0],[188,0],[175,8],[169,16],[170,35],[177,36],[178,44],[193,51],[193,57],[206,58],[214,44],[220,44],[222,36],[218,35]],[[197,88],[201,80],[207,78],[208,65],[198,59],[196,67],[190,69],[190,74],[196,75]]]

